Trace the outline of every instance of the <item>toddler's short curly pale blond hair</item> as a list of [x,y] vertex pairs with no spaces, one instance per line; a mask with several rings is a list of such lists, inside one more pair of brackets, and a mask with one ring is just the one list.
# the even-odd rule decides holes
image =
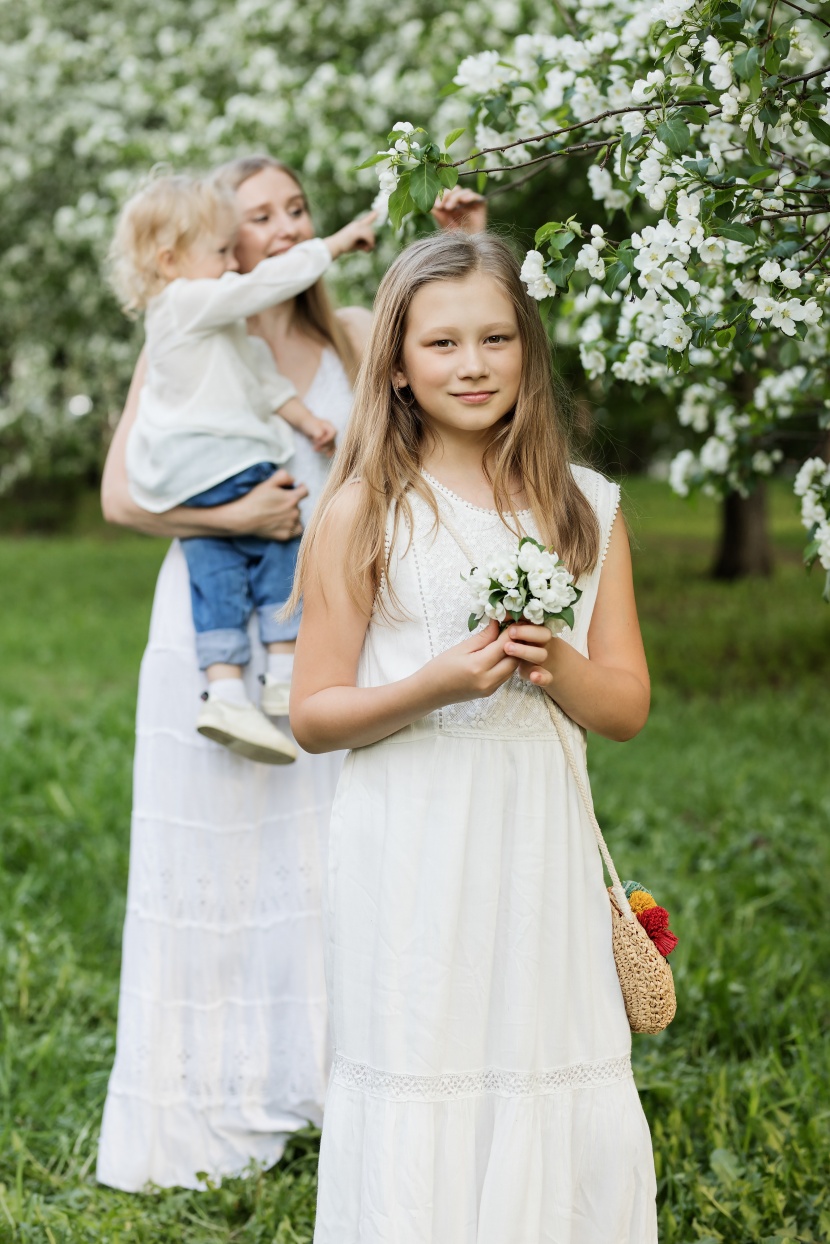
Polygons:
[[159,250],[182,255],[238,220],[233,194],[213,180],[177,174],[142,185],[121,209],[108,255],[110,282],[127,315],[143,311],[169,284],[158,270]]

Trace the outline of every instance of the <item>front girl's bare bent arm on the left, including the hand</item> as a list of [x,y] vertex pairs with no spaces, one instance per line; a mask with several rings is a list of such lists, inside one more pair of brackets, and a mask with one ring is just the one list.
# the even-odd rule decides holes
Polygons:
[[386,687],[357,687],[372,613],[371,590],[353,601],[343,565],[357,505],[351,485],[335,500],[309,559],[291,679],[291,729],[306,751],[362,748],[443,704],[492,695],[516,668],[493,622],[485,631]]

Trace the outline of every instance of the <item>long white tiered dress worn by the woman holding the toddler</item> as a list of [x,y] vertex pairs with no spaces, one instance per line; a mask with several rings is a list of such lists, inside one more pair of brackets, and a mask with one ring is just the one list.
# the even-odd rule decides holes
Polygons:
[[[352,394],[324,352],[309,407],[345,427]],[[314,504],[326,465],[289,463]],[[314,468],[310,469],[310,468]],[[251,622],[256,700],[264,651]],[[116,1062],[98,1147],[101,1183],[197,1188],[320,1123],[330,1049],[321,858],[341,754],[254,764],[195,731],[187,565],[162,566],[136,719],[129,883]],[[282,723],[287,728],[287,723]]]

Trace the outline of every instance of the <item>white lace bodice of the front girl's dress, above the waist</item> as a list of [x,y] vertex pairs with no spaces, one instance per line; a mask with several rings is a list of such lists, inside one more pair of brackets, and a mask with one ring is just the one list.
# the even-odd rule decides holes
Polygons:
[[[566,643],[587,656],[591,613],[620,503],[620,489],[587,468],[574,466],[572,470],[600,524],[600,559],[595,569],[579,582],[582,597],[575,610],[574,631],[565,632],[564,636]],[[515,534],[504,525],[495,510],[472,505],[437,480],[426,478],[445,521],[436,529],[431,509],[419,496],[412,496],[412,539],[408,539],[407,531],[398,535],[388,573],[406,616],[389,623],[376,610],[358,666],[358,685],[362,687],[377,687],[406,678],[441,652],[467,638],[470,603],[462,575],[469,572],[470,565],[462,547],[480,562],[499,550],[513,550],[516,544]],[[528,534],[539,537],[530,511],[519,518]],[[389,531],[391,526],[389,522]],[[516,674],[489,698],[445,705],[392,738],[402,741],[407,733],[424,730],[499,738],[555,734],[548,697]]]

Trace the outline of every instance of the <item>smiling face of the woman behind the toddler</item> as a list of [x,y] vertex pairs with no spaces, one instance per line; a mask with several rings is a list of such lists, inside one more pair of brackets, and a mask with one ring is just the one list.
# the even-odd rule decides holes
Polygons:
[[254,173],[236,189],[236,203],[241,216],[236,241],[241,272],[250,272],[260,260],[314,238],[305,195],[282,169],[264,168]]

